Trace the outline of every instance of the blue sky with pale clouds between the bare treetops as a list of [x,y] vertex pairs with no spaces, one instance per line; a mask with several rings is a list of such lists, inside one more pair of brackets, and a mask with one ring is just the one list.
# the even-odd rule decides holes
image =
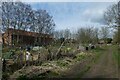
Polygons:
[[100,27],[104,23],[104,11],[114,2],[29,2],[33,9],[44,9],[53,16],[55,30],[80,27]]

